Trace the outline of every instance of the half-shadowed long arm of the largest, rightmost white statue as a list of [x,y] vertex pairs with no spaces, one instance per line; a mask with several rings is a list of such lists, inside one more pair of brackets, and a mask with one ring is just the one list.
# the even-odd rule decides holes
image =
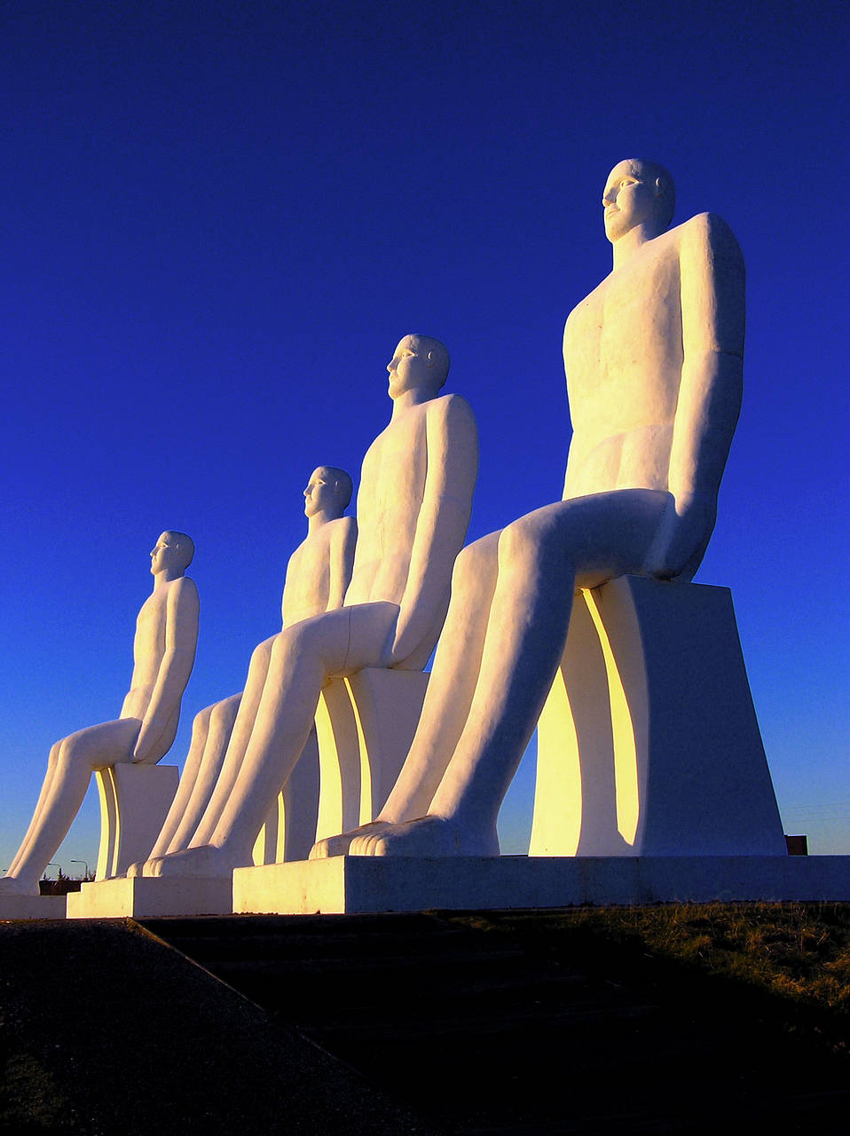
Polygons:
[[690,579],[702,560],[743,379],[744,266],[725,222],[702,214],[683,226],[680,269],[683,362],[668,476],[675,509],[649,563],[666,579]]

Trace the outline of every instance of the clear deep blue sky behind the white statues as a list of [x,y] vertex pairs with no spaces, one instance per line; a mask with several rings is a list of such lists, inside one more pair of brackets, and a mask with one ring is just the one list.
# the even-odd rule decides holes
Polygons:
[[[193,715],[280,625],[301,492],[385,366],[452,353],[469,537],[560,496],[560,340],[622,158],[748,267],[745,393],[697,579],[727,585],[786,832],[850,853],[847,59],[838,2],[6,0],[0,868],[50,744],[118,713],[148,553],[195,540]],[[686,754],[683,754],[686,760]],[[502,810],[524,851],[533,754]],[[58,855],[93,866],[97,794]]]

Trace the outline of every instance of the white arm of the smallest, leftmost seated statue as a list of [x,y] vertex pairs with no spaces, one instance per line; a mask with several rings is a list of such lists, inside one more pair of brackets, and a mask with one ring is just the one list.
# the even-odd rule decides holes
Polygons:
[[155,765],[174,741],[169,727],[176,724],[183,691],[192,673],[199,608],[194,582],[186,576],[175,580],[166,602],[165,651],[133,750],[136,763]]

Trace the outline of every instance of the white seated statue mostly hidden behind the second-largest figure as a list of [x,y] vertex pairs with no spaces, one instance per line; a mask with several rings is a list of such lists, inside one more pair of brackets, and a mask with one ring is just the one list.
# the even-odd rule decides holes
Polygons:
[[[281,602],[283,627],[342,607],[357,541],[357,521],[343,517],[352,491],[351,477],[344,469],[319,466],[310,475],[303,493],[307,537],[286,566]],[[260,643],[251,657],[247,688],[255,694],[262,690],[274,641],[273,635]],[[242,693],[232,694],[195,716],[186,765],[172,808],[147,863],[133,864],[128,876],[151,875],[156,860],[189,845],[215,788],[241,702]],[[248,717],[243,715],[245,728],[256,713],[255,702],[245,710]]]

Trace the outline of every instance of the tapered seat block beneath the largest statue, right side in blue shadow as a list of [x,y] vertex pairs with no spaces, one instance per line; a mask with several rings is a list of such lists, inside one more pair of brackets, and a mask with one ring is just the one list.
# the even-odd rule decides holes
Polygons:
[[727,588],[625,576],[576,598],[530,854],[786,854]]

